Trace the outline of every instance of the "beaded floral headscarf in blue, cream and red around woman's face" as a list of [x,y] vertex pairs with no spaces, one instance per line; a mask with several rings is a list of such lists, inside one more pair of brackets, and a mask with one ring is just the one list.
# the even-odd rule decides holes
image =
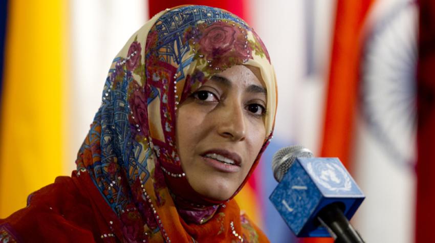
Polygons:
[[[212,202],[193,191],[175,146],[178,105],[212,75],[238,64],[260,70],[269,113],[263,148],[234,195],[269,143],[276,109],[274,71],[255,32],[227,11],[182,6],[154,16],[114,59],[76,163],[78,175],[89,173],[118,215],[118,237],[255,241],[252,227],[242,229],[247,219],[234,200]],[[195,222],[198,216],[212,217]]]

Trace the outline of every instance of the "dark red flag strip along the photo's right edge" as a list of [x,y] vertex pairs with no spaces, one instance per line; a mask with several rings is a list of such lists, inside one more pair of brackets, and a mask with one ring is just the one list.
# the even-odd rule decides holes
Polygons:
[[433,242],[435,215],[435,2],[420,1],[417,69],[417,211],[416,242]]

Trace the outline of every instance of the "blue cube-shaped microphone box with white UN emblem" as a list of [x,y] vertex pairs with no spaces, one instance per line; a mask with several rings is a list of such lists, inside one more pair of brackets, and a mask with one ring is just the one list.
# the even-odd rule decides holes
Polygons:
[[364,198],[338,158],[297,158],[269,197],[298,237],[330,237],[318,212],[338,203],[351,219]]

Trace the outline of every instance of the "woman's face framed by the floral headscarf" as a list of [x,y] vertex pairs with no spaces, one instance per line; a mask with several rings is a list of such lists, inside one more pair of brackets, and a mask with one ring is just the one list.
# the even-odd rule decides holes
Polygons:
[[235,65],[214,75],[177,113],[177,148],[191,187],[212,200],[231,197],[266,137],[266,89],[258,69]]

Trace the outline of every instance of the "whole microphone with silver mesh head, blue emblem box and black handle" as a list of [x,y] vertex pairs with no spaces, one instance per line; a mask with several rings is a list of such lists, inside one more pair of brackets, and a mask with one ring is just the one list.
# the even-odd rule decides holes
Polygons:
[[349,219],[365,196],[338,158],[290,146],[274,154],[272,170],[279,184],[269,199],[297,237],[364,242]]

